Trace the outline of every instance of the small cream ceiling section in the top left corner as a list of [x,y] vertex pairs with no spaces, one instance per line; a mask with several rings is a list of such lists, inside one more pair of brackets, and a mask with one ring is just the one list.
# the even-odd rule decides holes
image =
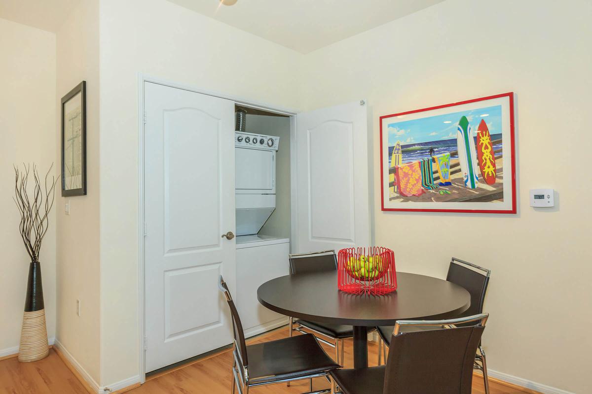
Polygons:
[[0,0],[0,18],[56,32],[81,0]]

